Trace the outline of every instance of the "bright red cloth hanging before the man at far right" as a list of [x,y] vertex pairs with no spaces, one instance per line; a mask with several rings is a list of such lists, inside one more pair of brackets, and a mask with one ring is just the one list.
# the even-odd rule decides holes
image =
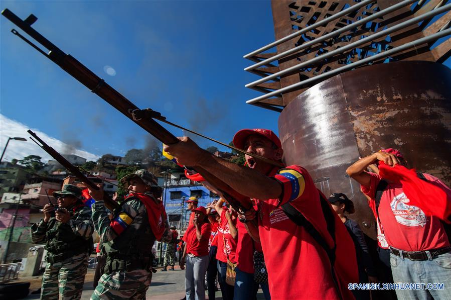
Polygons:
[[446,223],[451,223],[451,194],[446,192],[439,184],[418,178],[414,169],[404,166],[394,167],[379,162],[379,175],[383,179],[400,182],[402,189],[409,198],[409,205],[420,208],[425,215],[434,216]]

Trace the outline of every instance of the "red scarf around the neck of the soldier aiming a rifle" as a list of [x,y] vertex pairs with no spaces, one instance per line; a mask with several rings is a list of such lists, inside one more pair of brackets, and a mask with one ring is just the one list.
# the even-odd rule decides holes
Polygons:
[[151,225],[152,232],[157,238],[157,241],[160,241],[166,230],[165,221],[167,219],[163,203],[156,200],[153,196],[144,193],[129,193],[125,199],[128,199],[129,197],[138,198],[145,205],[145,210],[147,211],[147,217],[149,224]]

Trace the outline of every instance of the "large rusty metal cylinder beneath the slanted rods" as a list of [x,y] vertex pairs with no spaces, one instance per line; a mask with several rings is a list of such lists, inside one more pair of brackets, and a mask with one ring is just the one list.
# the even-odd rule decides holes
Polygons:
[[451,70],[426,61],[366,66],[320,82],[280,114],[286,164],[302,165],[326,196],[346,193],[350,216],[375,238],[374,217],[346,168],[382,148],[451,184]]

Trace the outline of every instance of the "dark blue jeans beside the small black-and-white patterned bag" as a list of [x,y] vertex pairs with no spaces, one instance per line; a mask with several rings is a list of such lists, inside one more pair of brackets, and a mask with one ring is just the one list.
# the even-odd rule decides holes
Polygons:
[[269,284],[265,283],[257,283],[254,281],[253,273],[246,273],[235,268],[236,279],[235,279],[235,290],[233,293],[233,300],[254,300],[256,299],[258,286],[261,285],[261,289],[263,290],[263,294],[266,300],[270,300],[271,296],[269,295]]

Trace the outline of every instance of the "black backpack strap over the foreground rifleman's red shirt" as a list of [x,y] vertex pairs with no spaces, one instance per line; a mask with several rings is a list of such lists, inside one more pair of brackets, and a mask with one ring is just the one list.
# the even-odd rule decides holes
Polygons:
[[332,239],[334,240],[334,246],[332,249],[326,243],[326,240],[319,233],[319,231],[312,225],[312,223],[310,223],[306,219],[306,217],[304,217],[302,213],[296,210],[289,202],[285,203],[280,208],[294,224],[304,227],[304,229],[313,237],[313,239],[321,246],[321,248],[323,248],[326,251],[326,254],[329,257],[331,263],[332,279],[334,280],[335,287],[337,288],[337,293],[340,299],[342,299],[341,289],[339,287],[338,279],[335,274],[334,268],[336,258],[335,250],[337,249],[337,243],[335,240],[335,218],[334,215],[332,214],[328,201],[323,197],[321,192],[319,192],[319,194],[320,194],[321,209],[323,211],[324,219],[326,220],[327,230],[331,235]]

